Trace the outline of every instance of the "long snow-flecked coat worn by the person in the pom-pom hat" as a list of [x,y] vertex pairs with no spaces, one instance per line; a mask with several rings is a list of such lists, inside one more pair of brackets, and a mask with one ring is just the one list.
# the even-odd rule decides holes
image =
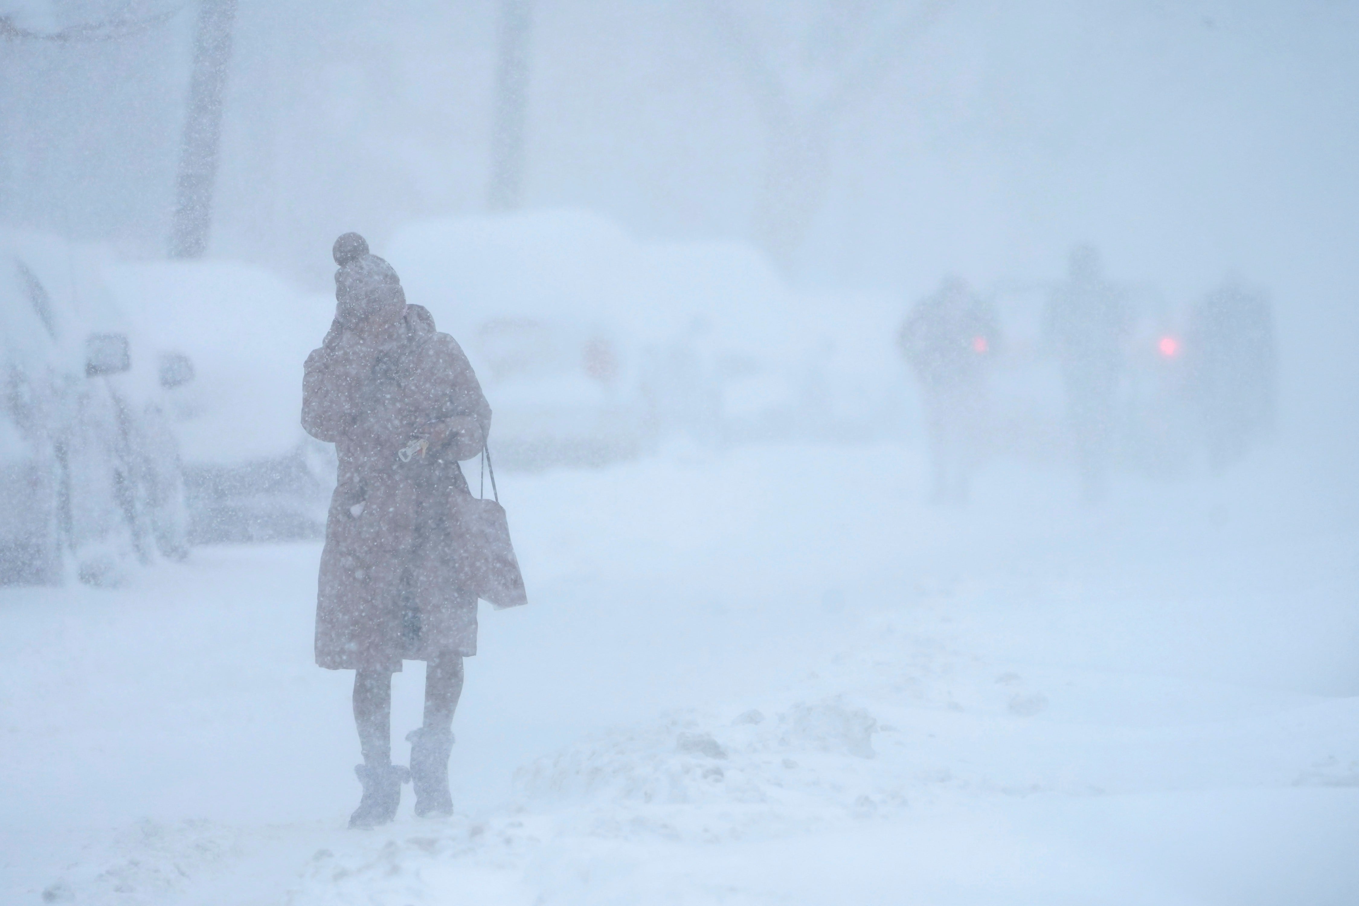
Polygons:
[[[431,422],[450,440],[402,462]],[[376,342],[333,326],[307,356],[302,425],[334,441],[317,598],[317,663],[332,670],[401,670],[442,651],[477,652],[477,599],[458,587],[450,508],[467,484],[491,406],[462,349],[420,306]]]

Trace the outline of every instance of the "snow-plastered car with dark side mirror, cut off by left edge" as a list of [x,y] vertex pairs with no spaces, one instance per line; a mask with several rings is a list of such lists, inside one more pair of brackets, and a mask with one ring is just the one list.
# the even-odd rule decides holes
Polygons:
[[117,584],[186,553],[156,357],[99,249],[0,231],[0,583]]

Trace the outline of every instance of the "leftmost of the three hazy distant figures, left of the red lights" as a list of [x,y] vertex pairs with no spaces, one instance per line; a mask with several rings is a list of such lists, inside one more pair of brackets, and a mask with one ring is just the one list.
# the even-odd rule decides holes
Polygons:
[[996,338],[991,306],[958,277],[917,302],[901,325],[897,342],[924,395],[934,503],[968,499],[985,441],[985,378]]

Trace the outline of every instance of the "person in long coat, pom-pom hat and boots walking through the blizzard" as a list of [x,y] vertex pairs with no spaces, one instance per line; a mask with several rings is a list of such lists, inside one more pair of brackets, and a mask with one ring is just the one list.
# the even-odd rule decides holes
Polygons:
[[[467,494],[458,460],[481,452],[491,407],[434,318],[408,306],[395,270],[357,234],[336,240],[336,319],[307,356],[302,425],[334,441],[317,663],[356,671],[363,800],[351,827],[391,820],[409,777],[417,815],[448,815],[453,712],[462,659],[477,653],[477,599],[461,588],[450,507]],[[391,763],[391,674],[424,660],[424,725],[410,769]]]

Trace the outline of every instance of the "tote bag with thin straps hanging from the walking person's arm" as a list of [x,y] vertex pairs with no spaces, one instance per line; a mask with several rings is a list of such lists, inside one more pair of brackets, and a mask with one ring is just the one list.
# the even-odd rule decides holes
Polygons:
[[491,451],[481,448],[481,494],[485,494],[485,474],[491,470],[491,490],[495,500],[457,494],[453,503],[453,524],[458,535],[458,581],[476,592],[477,598],[495,607],[518,607],[529,603],[523,588],[523,573],[510,541],[510,520],[500,505],[496,489],[496,470],[491,465]]

